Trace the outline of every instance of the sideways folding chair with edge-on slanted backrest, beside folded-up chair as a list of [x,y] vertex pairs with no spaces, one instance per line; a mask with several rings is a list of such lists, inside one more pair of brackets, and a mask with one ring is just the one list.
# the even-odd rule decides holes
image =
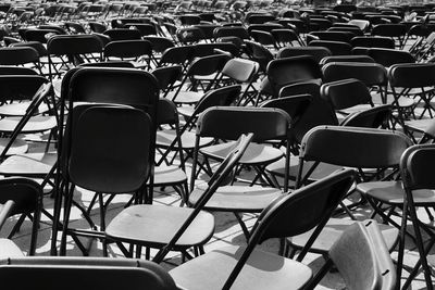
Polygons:
[[[105,230],[105,236],[116,241],[127,256],[133,253],[126,251],[122,242],[160,248],[153,257],[157,263],[162,262],[171,250],[179,250],[185,256],[189,256],[186,252],[189,248],[196,248],[196,255],[203,253],[202,245],[213,235],[214,218],[202,209],[223,180],[228,177],[251,138],[251,134],[239,138],[234,150],[228,152],[210,180],[195,209],[145,204],[129,206],[112,219]],[[126,227],[126,225],[128,226]],[[149,228],[153,228],[153,230],[150,231]],[[140,251],[137,251],[136,254],[139,255]]]

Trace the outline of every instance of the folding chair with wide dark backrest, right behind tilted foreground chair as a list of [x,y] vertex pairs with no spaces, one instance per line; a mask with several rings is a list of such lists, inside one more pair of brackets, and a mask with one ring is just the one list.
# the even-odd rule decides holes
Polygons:
[[[302,139],[296,187],[309,184],[311,174],[322,163],[358,169],[357,188],[369,180],[387,180],[395,173],[395,171],[388,172],[387,168],[396,169],[397,173],[398,160],[402,150],[410,144],[409,141],[403,134],[389,130],[318,126],[307,133]],[[328,150],[330,148],[334,150]],[[306,166],[308,168],[304,168]],[[349,191],[346,197],[353,192],[353,190]],[[331,218],[310,251],[327,254],[343,231],[357,220],[350,209],[359,204],[346,206],[341,203],[341,210],[350,217],[350,220]],[[391,225],[397,226],[394,222]],[[387,248],[393,250],[398,238],[397,228],[382,225],[382,232]],[[302,234],[287,239],[289,245],[294,248],[290,255],[297,249],[302,249],[309,237],[309,234]]]

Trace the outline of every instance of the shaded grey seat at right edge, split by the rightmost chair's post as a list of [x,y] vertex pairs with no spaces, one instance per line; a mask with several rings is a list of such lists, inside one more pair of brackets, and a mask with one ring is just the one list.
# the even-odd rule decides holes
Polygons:
[[[401,181],[374,181],[357,185],[357,190],[389,204],[403,204],[405,190]],[[435,190],[413,190],[415,206],[435,204]]]

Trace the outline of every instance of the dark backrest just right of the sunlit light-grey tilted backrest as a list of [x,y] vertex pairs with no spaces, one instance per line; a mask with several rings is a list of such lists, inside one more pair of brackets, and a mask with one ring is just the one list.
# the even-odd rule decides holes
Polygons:
[[321,68],[311,56],[277,59],[268,65],[268,79],[275,96],[284,86],[321,78]]

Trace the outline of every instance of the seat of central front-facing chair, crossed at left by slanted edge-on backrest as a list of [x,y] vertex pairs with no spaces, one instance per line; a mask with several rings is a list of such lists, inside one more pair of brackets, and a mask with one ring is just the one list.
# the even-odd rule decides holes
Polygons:
[[[207,185],[199,185],[189,194],[189,203],[196,204]],[[260,212],[283,192],[276,188],[224,186],[220,187],[207,202],[206,207],[219,211]]]

